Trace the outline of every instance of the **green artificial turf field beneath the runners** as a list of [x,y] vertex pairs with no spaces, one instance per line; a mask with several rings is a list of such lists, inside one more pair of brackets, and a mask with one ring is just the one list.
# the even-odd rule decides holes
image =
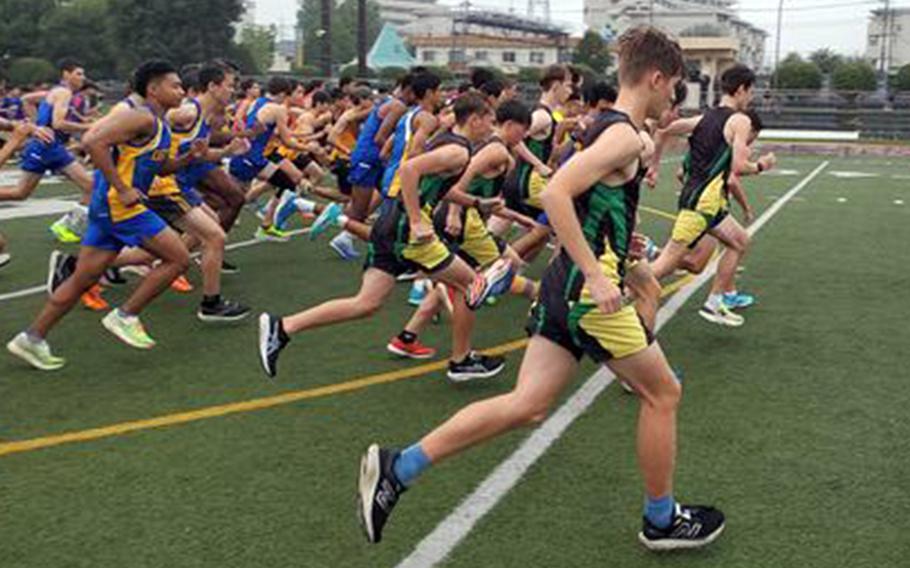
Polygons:
[[[823,161],[784,158],[780,173],[748,180],[756,209]],[[660,243],[674,167],[643,195],[642,229]],[[759,300],[746,325],[702,321],[703,289],[661,331],[686,386],[676,494],[724,509],[715,546],[655,556],[637,543],[637,403],[610,385],[443,564],[906,565],[908,174],[887,159],[830,160],[756,235],[740,277]],[[43,282],[52,219],[0,221],[14,255],[0,271],[4,342],[44,300],[9,296]],[[245,214],[234,242],[254,227]],[[225,294],[257,309],[288,312],[359,284],[359,266],[305,237],[228,257],[242,272],[225,277]],[[258,368],[253,320],[205,327],[193,317],[198,296],[173,292],[143,316],[159,342],[151,352],[120,345],[101,315],[77,308],[50,337],[64,370],[41,374],[0,353],[0,566],[397,565],[529,435],[429,472],[385,541],[365,543],[354,515],[360,452],[375,440],[409,443],[509,389],[521,357],[528,306],[518,299],[478,318],[476,345],[508,354],[497,379],[453,387],[442,362],[387,356],[410,314],[406,293],[373,321],[296,337],[275,383]],[[424,339],[447,352],[446,325]],[[585,364],[576,386],[595,371]]]

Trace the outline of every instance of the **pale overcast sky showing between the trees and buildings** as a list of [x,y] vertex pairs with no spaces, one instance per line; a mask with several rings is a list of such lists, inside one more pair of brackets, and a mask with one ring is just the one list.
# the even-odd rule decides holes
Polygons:
[[[458,4],[460,0],[440,0],[443,4]],[[472,5],[512,8],[525,13],[527,0],[472,0]],[[882,6],[881,0],[784,0],[781,57],[790,51],[808,54],[820,47],[830,47],[846,55],[858,55],[866,46],[866,22],[872,8]],[[259,23],[280,24],[285,33],[293,28],[297,0],[256,0]],[[893,0],[893,6],[910,7],[910,0]],[[584,0],[550,0],[554,20],[583,30]],[[765,44],[772,57],[777,26],[778,0],[740,0],[740,16],[763,28],[770,35]]]

